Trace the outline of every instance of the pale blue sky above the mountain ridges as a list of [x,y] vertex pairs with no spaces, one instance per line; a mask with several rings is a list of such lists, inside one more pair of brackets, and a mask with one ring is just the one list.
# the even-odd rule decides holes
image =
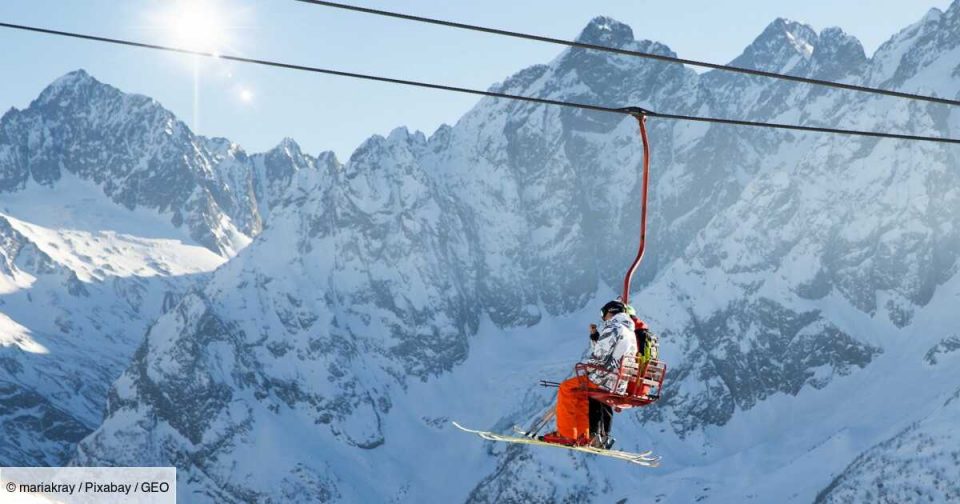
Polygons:
[[[181,0],[183,1],[183,0]],[[225,19],[224,53],[413,80],[487,88],[547,62],[556,46],[461,32],[292,0],[211,1]],[[960,1],[960,0],[958,0]],[[347,0],[344,0],[348,3]],[[663,42],[680,56],[735,58],[776,17],[840,26],[871,54],[894,33],[950,0],[353,0],[358,5],[574,38],[597,15]],[[0,20],[176,45],[158,12],[175,0],[3,0]],[[0,30],[0,107],[26,107],[52,80],[84,68],[101,81],[158,99],[199,133],[249,152],[283,137],[307,152],[346,159],[372,134],[408,126],[427,134],[455,122],[472,96],[408,89],[257,66],[202,60],[93,42]],[[195,68],[195,65],[197,67]],[[199,74],[194,101],[195,70]],[[195,114],[196,112],[196,114]]]

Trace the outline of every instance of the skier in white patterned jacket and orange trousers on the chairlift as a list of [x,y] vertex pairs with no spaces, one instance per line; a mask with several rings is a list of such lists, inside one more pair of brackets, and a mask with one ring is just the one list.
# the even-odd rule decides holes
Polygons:
[[[590,326],[590,357],[596,366],[587,376],[575,376],[560,384],[557,391],[557,430],[542,441],[565,445],[591,445],[609,449],[613,445],[610,423],[613,411],[609,406],[590,399],[590,389],[603,389],[623,394],[627,383],[617,383],[621,359],[637,354],[634,321],[620,301],[610,301],[600,311],[600,329]],[[616,390],[614,390],[616,387]],[[602,435],[598,435],[602,434]]]

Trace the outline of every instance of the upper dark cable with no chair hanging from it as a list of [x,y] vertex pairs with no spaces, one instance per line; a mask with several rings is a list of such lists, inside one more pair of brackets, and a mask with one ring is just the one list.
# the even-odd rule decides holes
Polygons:
[[665,61],[665,62],[668,62],[668,63],[682,63],[682,64],[684,64],[684,65],[696,66],[696,67],[701,67],[701,68],[711,68],[711,69],[714,69],[714,70],[722,70],[722,71],[724,71],[724,72],[735,72],[735,73],[741,73],[741,74],[747,74],[747,75],[754,75],[754,76],[759,76],[759,77],[769,77],[769,78],[772,78],[772,79],[780,79],[780,80],[785,80],[785,81],[802,82],[802,83],[804,83],[804,84],[813,84],[813,85],[815,85],[815,86],[827,86],[827,87],[833,87],[833,88],[838,88],[838,89],[846,89],[846,90],[848,90],[848,91],[858,91],[858,92],[862,92],[862,93],[872,93],[872,94],[878,94],[878,95],[884,95],[884,96],[894,96],[894,97],[897,97],[897,98],[906,98],[906,99],[910,99],[910,100],[920,100],[920,101],[926,101],[926,102],[931,102],[931,103],[940,103],[940,104],[944,104],[944,105],[957,105],[957,106],[960,106],[960,100],[951,100],[951,99],[947,99],[947,98],[938,98],[938,97],[935,97],[935,96],[926,96],[926,95],[918,95],[918,94],[913,94],[913,93],[904,93],[904,92],[900,92],[900,91],[891,91],[891,90],[887,90],[887,89],[872,88],[872,87],[868,87],[868,86],[858,86],[858,85],[855,85],[855,84],[844,84],[844,83],[842,83],[842,82],[833,82],[833,81],[826,81],[826,80],[821,80],[821,79],[811,79],[811,78],[808,78],[808,77],[797,77],[797,76],[794,76],[794,75],[778,74],[778,73],[775,73],[775,72],[766,72],[766,71],[763,71],[763,70],[752,70],[752,69],[749,69],[749,68],[735,67],[735,66],[730,66],[730,65],[720,65],[720,64],[717,64],[717,63],[709,63],[709,62],[706,62],[706,61],[697,61],[697,60],[691,60],[691,59],[676,58],[676,57],[673,57],[673,56],[664,56],[664,55],[661,55],[661,54],[652,54],[652,53],[645,53],[645,52],[640,52],[640,51],[631,51],[631,50],[629,50],[629,49],[620,49],[620,48],[616,48],[616,47],[601,46],[601,45],[596,45],[596,44],[587,44],[587,43],[584,43],[584,42],[576,42],[576,41],[563,40],[563,39],[552,38],[552,37],[544,37],[544,36],[540,36],[540,35],[531,35],[531,34],[529,34],[529,33],[520,33],[520,32],[508,31],[508,30],[500,30],[500,29],[497,29],[497,28],[488,28],[488,27],[485,27],[485,26],[477,26],[477,25],[471,25],[471,24],[465,24],[465,23],[457,23],[457,22],[453,22],[453,21],[444,21],[444,20],[442,20],[442,19],[434,19],[434,18],[421,17],[421,16],[412,16],[412,15],[409,15],[409,14],[402,14],[402,13],[399,13],[399,12],[391,12],[391,11],[385,11],[385,10],[379,10],[379,9],[371,9],[371,8],[368,8],[368,7],[359,7],[359,6],[356,6],[356,5],[347,5],[347,4],[341,4],[341,3],[336,3],[336,2],[327,2],[327,1],[323,1],[323,0],[295,0],[295,1],[297,1],[297,2],[302,2],[302,3],[307,3],[307,4],[319,5],[319,6],[323,6],[323,7],[332,7],[332,8],[335,8],[335,9],[344,9],[344,10],[362,12],[362,13],[364,13],[364,14],[373,14],[373,15],[376,15],[376,16],[385,16],[385,17],[392,17],[392,18],[397,18],[397,19],[405,19],[405,20],[407,20],[407,21],[416,21],[416,22],[418,22],[418,23],[428,23],[428,24],[434,24],[434,25],[439,25],[439,26],[446,26],[446,27],[450,27],[450,28],[458,28],[458,29],[462,29],[462,30],[470,30],[470,31],[483,32],[483,33],[491,33],[491,34],[494,34],[494,35],[503,35],[503,36],[506,36],[506,37],[514,37],[514,38],[525,39],[525,40],[534,40],[534,41],[537,41],[537,42],[546,42],[546,43],[548,43],[548,44],[556,44],[556,45],[562,45],[562,46],[568,46],[568,47],[578,47],[578,48],[581,48],[581,49],[590,49],[590,50],[593,50],[593,51],[604,51],[604,52],[609,52],[609,53],[614,53],[614,54],[621,54],[621,55],[624,55],[624,56],[635,56],[635,57],[638,57],[638,58],[647,58],[647,59],[652,59],[652,60],[657,60],[657,61]]

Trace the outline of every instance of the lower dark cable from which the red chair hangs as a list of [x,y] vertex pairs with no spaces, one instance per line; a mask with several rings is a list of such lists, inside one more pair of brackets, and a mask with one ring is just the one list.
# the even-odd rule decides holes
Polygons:
[[902,135],[902,134],[897,134],[897,133],[886,133],[886,132],[881,132],[881,131],[858,131],[858,130],[846,130],[846,129],[836,129],[836,128],[821,128],[821,127],[815,127],[815,126],[798,126],[798,125],[792,125],[792,124],[778,124],[778,123],[764,123],[764,122],[754,122],[754,121],[742,121],[742,120],[737,120],[737,119],[720,119],[720,118],[714,118],[714,117],[687,116],[687,115],[680,115],[680,114],[668,114],[668,113],[653,112],[653,111],[644,110],[644,109],[637,108],[637,107],[627,107],[627,108],[604,107],[604,106],[600,106],[600,105],[591,105],[591,104],[588,104],[588,103],[576,103],[576,102],[561,101],[561,100],[551,100],[551,99],[548,99],[548,98],[536,98],[536,97],[533,97],[533,96],[513,95],[513,94],[508,94],[508,93],[500,93],[500,92],[496,92],[496,91],[481,91],[481,90],[479,90],[479,89],[471,89],[471,88],[464,88],[464,87],[457,87],[457,86],[447,86],[447,85],[443,85],[443,84],[434,84],[434,83],[430,83],[430,82],[420,82],[420,81],[412,81],[412,80],[405,80],[405,79],[395,79],[395,78],[392,78],[392,77],[382,77],[382,76],[377,76],[377,75],[361,74],[361,73],[354,73],[354,72],[344,72],[344,71],[332,70],[332,69],[328,69],[328,68],[311,67],[311,66],[305,66],[305,65],[296,65],[296,64],[292,64],[292,63],[282,63],[282,62],[278,62],[278,61],[261,60],[261,59],[254,59],[254,58],[244,58],[244,57],[241,57],[241,56],[231,56],[231,55],[227,55],[227,54],[218,54],[218,53],[212,53],[212,52],[197,51],[197,50],[192,50],[192,49],[184,49],[184,48],[179,48],[179,47],[170,47],[170,46],[164,46],[164,45],[158,45],[158,44],[147,44],[147,43],[143,43],[143,42],[134,42],[134,41],[130,41],[130,40],[115,39],[115,38],[108,38],[108,37],[100,37],[100,36],[96,36],[96,35],[86,35],[86,34],[83,34],[83,33],[67,32],[67,31],[60,31],[60,30],[51,30],[51,29],[47,29],[47,28],[39,28],[39,27],[36,27],[36,26],[26,26],[26,25],[12,24],[12,23],[4,23],[4,22],[0,22],[0,28],[10,28],[10,29],[14,29],[14,30],[28,31],[28,32],[33,32],[33,33],[42,33],[42,34],[46,34],[46,35],[57,35],[57,36],[61,36],[61,37],[68,37],[68,38],[82,39],[82,40],[91,40],[91,41],[95,41],[95,42],[105,42],[105,43],[109,43],[109,44],[117,44],[117,45],[130,46],[130,47],[140,47],[140,48],[145,48],[145,49],[154,49],[154,50],[158,50],[158,51],[168,51],[168,52],[175,52],[175,53],[181,53],[181,54],[191,54],[191,55],[195,55],[195,56],[204,56],[204,57],[208,57],[208,58],[218,58],[218,59],[222,59],[222,60],[236,61],[236,62],[240,62],[240,63],[250,63],[250,64],[254,64],[254,65],[263,65],[263,66],[276,67],[276,68],[286,68],[286,69],[289,69],[289,70],[300,70],[300,71],[304,71],[304,72],[312,72],[312,73],[319,73],[319,74],[326,74],[326,75],[336,75],[336,76],[340,76],[340,77],[350,77],[350,78],[354,78],[354,79],[363,79],[363,80],[370,80],[370,81],[377,81],[377,82],[387,82],[387,83],[390,83],[390,84],[402,84],[402,85],[405,85],[405,86],[415,86],[415,87],[422,87],[422,88],[428,88],[428,89],[438,89],[438,90],[442,90],[442,91],[452,91],[452,92],[456,92],[456,93],[466,93],[466,94],[472,94],[472,95],[487,96],[487,97],[491,97],[491,98],[504,98],[504,99],[508,99],[508,100],[517,100],[517,101],[524,101],[524,102],[530,102],[530,103],[538,103],[538,104],[542,104],[542,105],[556,105],[556,106],[561,106],[561,107],[571,107],[571,108],[577,108],[577,109],[583,109],[583,110],[593,110],[593,111],[597,111],[597,112],[610,112],[610,113],[626,114],[626,115],[632,115],[632,116],[646,115],[646,116],[649,116],[649,117],[660,117],[660,118],[664,118],[664,119],[674,119],[674,120],[678,120],[678,121],[695,121],[695,122],[714,123],[714,124],[730,124],[730,125],[737,125],[737,126],[753,126],[753,127],[761,127],[761,128],[786,129],[786,130],[794,130],[794,131],[808,131],[808,132],[815,132],[815,133],[833,133],[833,134],[840,134],[840,135],[867,136],[867,137],[875,137],[875,138],[893,138],[893,139],[899,139],[899,140],[911,140],[911,141],[918,141],[918,142],[937,142],[937,143],[960,144],[960,139],[948,138],[948,137],[931,137],[931,136],[917,136],[917,135]]

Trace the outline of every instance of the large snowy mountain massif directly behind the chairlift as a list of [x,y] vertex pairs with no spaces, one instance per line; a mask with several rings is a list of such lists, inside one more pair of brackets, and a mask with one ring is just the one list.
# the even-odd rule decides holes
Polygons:
[[[960,1],[868,58],[840,29],[780,19],[734,64],[955,98],[958,23]],[[672,54],[609,18],[580,39]],[[942,106],[581,49],[494,89],[960,136]],[[954,498],[958,151],[650,126],[635,304],[671,370],[660,403],[614,425],[619,446],[662,454],[659,470],[449,426],[506,431],[549,407],[534,384],[569,372],[636,245],[635,122],[494,99],[429,137],[373,137],[345,164],[200,142],[212,168],[191,191],[228,217],[183,222],[268,225],[149,327],[74,463],[176,465],[199,502]]]

